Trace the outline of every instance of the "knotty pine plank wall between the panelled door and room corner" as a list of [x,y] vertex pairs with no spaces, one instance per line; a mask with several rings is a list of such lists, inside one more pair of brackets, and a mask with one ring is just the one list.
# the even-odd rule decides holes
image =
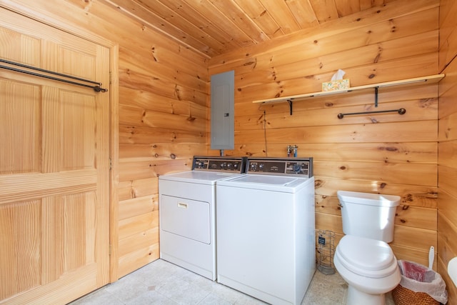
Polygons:
[[192,156],[208,153],[208,59],[103,0],[6,2],[119,45],[119,109],[111,111],[119,111],[114,281],[159,258],[159,174],[189,170]]

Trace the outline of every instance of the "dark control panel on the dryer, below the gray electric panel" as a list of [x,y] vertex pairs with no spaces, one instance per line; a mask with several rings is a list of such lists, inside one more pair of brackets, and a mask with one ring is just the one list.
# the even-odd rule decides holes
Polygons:
[[246,158],[223,156],[194,156],[193,171],[229,171],[243,174],[246,170]]

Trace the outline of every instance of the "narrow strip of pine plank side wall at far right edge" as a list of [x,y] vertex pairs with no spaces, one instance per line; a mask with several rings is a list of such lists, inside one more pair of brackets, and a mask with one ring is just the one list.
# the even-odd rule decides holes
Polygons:
[[441,0],[439,69],[446,78],[438,104],[438,272],[448,287],[448,304],[457,304],[457,288],[446,271],[457,256],[457,2]]

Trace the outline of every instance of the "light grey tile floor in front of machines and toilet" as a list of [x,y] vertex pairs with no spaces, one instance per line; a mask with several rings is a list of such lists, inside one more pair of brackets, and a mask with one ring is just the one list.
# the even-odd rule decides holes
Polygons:
[[[347,288],[347,284],[338,274],[326,275],[316,271],[302,304],[344,305]],[[386,299],[387,305],[393,305],[390,295]],[[257,305],[265,303],[168,261],[158,259],[70,304]]]

